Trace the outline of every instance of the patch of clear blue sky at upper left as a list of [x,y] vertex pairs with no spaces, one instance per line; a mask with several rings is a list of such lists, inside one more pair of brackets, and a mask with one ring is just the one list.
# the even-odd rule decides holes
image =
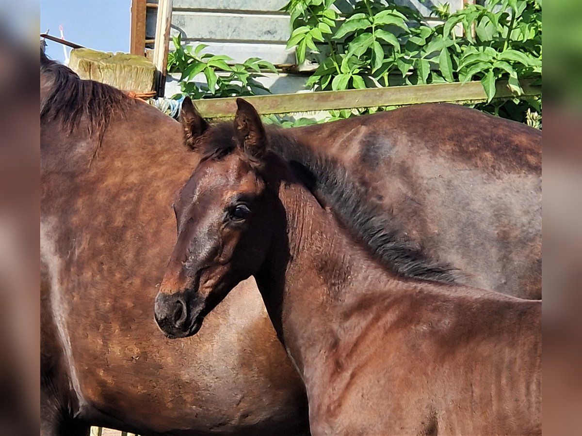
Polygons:
[[[40,0],[40,33],[60,36],[84,47],[129,52],[131,0]],[[69,50],[69,49],[68,49]],[[47,41],[47,55],[63,62],[63,46]]]

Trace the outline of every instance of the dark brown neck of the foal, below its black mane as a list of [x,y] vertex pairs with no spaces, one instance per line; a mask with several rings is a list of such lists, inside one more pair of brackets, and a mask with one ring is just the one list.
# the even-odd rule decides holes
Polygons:
[[[302,185],[281,183],[286,227],[255,276],[275,330],[301,374],[338,319],[378,284],[396,283]],[[317,339],[315,339],[317,338]]]

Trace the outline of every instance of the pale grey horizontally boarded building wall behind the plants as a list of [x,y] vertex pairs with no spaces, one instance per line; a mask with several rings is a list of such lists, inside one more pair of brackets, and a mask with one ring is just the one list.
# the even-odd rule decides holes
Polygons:
[[[417,9],[423,16],[430,15],[433,5],[443,0],[397,0],[402,5]],[[155,3],[157,0],[149,0]],[[315,59],[308,59],[303,65],[296,65],[293,49],[286,49],[290,35],[290,18],[280,9],[288,0],[174,0],[172,10],[171,35],[180,34],[182,41],[190,45],[207,44],[204,52],[228,55],[235,62],[243,62],[251,57],[268,60],[282,68],[295,67],[299,70],[317,68]],[[349,0],[336,2],[338,8],[346,10]],[[451,12],[463,7],[463,0],[449,0]],[[156,9],[148,9],[146,19],[146,39],[155,34]],[[430,22],[438,23],[431,19]],[[170,49],[173,44],[170,43]],[[204,80],[203,76],[195,80]],[[276,76],[268,74],[261,80],[276,94],[297,92],[304,89],[306,78],[295,74]],[[166,95],[179,91],[176,78],[169,78]]]

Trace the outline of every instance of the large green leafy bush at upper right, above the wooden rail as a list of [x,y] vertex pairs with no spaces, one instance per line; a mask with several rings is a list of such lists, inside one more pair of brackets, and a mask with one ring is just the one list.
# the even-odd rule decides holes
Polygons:
[[445,3],[433,8],[443,20],[435,27],[393,1],[356,0],[343,16],[336,3],[285,6],[293,27],[288,47],[298,62],[307,51],[320,53],[307,81],[313,90],[480,80],[491,102],[499,80],[516,97],[523,95],[520,80],[541,81],[540,0],[485,0],[454,13]]

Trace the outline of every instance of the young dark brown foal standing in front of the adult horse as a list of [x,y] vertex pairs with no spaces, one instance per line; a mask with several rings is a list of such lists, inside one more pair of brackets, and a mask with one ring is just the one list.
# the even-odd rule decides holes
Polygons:
[[541,301],[457,283],[337,160],[237,99],[197,142],[155,298],[171,338],[257,282],[311,434],[541,434]]

